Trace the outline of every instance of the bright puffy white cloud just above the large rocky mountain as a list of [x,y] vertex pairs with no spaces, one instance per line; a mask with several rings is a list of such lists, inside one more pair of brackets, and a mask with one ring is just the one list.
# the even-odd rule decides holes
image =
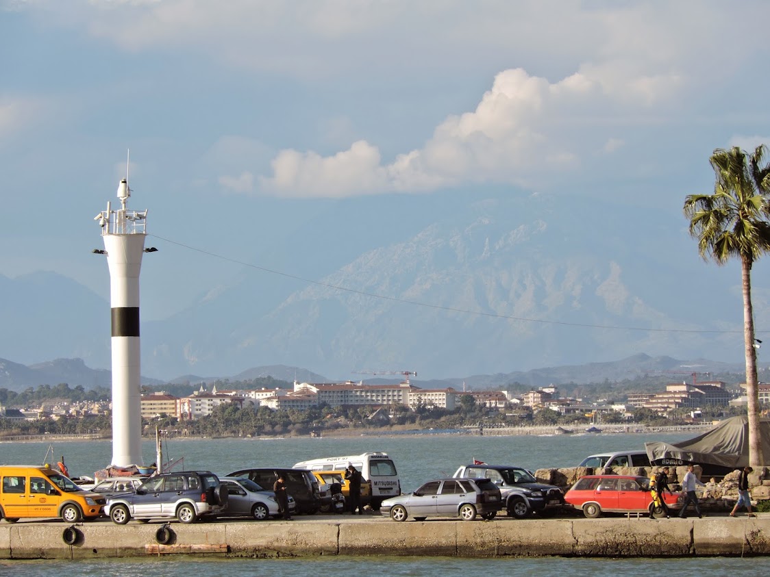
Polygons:
[[581,154],[590,148],[586,142],[605,152],[623,144],[599,128],[579,142],[564,135],[564,125],[593,115],[604,102],[624,98],[603,88],[584,74],[551,83],[521,68],[505,70],[473,112],[449,116],[422,148],[397,155],[390,164],[366,141],[326,157],[283,150],[273,159],[273,175],[259,178],[259,184],[264,192],[292,197],[422,192],[474,182],[537,188],[580,168]]

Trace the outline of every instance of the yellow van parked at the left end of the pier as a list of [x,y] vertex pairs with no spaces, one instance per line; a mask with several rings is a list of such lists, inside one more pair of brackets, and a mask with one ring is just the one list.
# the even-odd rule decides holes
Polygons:
[[104,495],[83,491],[48,465],[0,465],[0,519],[61,517],[68,523],[102,514]]

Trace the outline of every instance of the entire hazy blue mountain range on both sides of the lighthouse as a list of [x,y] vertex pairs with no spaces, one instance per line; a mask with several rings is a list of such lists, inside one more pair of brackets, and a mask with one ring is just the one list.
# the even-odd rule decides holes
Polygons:
[[[323,380],[408,369],[437,382],[528,375],[547,384],[554,373],[535,378],[537,367],[606,364],[641,351],[742,365],[740,270],[701,261],[681,208],[628,214],[585,196],[501,192],[486,200],[444,195],[434,210],[412,214],[410,197],[395,195],[378,201],[380,218],[393,217],[383,231],[367,228],[354,202],[287,227],[254,248],[259,267],[212,279],[182,311],[142,320],[142,373],[170,382],[282,365]],[[163,258],[162,242],[153,244]],[[330,245],[343,250],[322,265],[318,255]],[[761,339],[770,325],[762,262],[753,275]],[[152,299],[148,285],[142,276],[142,302]],[[12,382],[64,374],[84,385],[109,382],[102,296],[43,271],[0,275],[0,294],[0,353],[15,359],[5,369],[20,379]],[[59,361],[39,359],[83,365],[69,361],[70,377],[57,372]],[[75,377],[85,365],[101,372]]]

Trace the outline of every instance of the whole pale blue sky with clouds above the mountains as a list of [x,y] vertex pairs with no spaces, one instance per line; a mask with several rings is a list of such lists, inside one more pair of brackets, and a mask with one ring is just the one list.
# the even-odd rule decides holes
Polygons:
[[147,245],[198,249],[146,256],[148,320],[334,203],[375,218],[375,197],[508,187],[681,212],[715,148],[770,144],[768,18],[762,0],[0,0],[0,274],[109,299],[92,218],[129,150]]

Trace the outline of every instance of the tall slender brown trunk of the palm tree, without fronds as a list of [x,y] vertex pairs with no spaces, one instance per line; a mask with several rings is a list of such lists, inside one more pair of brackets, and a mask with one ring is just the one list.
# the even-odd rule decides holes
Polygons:
[[759,433],[759,387],[757,349],[754,346],[754,309],[752,307],[752,262],[741,259],[743,278],[743,339],[746,347],[746,396],[748,397],[748,464],[762,466],[762,435]]

